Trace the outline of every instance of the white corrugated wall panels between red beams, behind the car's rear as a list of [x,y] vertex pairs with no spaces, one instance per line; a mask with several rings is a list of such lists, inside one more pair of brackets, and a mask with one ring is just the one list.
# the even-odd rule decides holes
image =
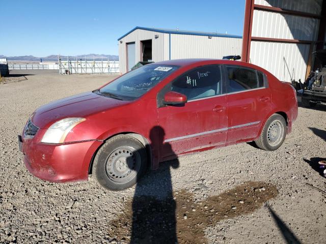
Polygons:
[[[320,14],[322,0],[255,0],[257,5]],[[319,19],[255,9],[252,37],[315,41]],[[310,44],[252,41],[250,62],[282,81],[306,78]]]

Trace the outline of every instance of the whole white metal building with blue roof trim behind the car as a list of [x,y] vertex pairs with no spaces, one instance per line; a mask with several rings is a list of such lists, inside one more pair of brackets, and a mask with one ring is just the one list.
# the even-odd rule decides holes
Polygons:
[[138,62],[239,55],[242,37],[218,33],[135,27],[118,39],[120,73]]

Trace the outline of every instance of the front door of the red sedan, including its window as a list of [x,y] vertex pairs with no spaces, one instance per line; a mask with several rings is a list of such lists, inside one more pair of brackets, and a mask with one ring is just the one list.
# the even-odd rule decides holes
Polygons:
[[[222,75],[222,66],[202,66],[179,76],[158,94],[158,121],[164,129],[161,157],[225,144],[228,110]],[[188,102],[163,105],[170,90],[186,95]]]

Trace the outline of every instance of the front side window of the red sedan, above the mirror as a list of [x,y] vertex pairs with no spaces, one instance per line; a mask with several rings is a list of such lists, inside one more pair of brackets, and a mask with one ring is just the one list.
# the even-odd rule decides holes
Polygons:
[[187,96],[188,101],[222,94],[221,66],[202,66],[174,80],[171,90]]

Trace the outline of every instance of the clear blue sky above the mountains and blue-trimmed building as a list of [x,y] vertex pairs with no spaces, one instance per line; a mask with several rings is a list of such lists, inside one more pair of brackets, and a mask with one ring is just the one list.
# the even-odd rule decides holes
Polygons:
[[118,55],[135,26],[242,36],[245,0],[0,0],[0,54]]

